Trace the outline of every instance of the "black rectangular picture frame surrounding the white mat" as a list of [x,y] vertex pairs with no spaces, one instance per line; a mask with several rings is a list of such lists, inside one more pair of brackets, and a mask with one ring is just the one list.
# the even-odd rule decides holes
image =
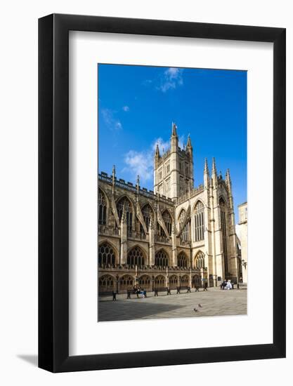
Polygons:
[[[272,344],[69,356],[68,37],[74,30],[273,43]],[[39,19],[40,368],[55,373],[285,357],[285,32],[284,28],[82,15]]]

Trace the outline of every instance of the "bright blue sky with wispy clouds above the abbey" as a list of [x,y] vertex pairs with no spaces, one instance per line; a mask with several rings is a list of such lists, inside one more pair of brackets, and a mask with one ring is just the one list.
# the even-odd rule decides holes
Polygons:
[[98,169],[153,188],[155,144],[167,150],[171,123],[179,144],[190,134],[195,186],[204,158],[230,168],[235,216],[247,200],[247,72],[129,65],[98,65]]

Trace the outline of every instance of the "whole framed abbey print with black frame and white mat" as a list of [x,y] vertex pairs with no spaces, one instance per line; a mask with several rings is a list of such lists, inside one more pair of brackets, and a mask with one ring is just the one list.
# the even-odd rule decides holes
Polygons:
[[285,29],[39,19],[39,367],[285,357]]

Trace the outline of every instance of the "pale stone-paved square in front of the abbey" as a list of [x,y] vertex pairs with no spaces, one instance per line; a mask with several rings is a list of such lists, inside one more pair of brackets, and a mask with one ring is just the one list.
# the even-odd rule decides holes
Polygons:
[[[99,301],[98,321],[121,321],[133,319],[164,319],[186,317],[214,317],[221,315],[243,315],[247,313],[247,290],[223,291],[219,287],[200,293],[171,291],[171,295],[126,300],[126,294],[117,295],[117,300],[105,297]],[[141,296],[141,295],[140,295]],[[202,305],[199,307],[198,304]],[[194,308],[198,311],[195,312]]]

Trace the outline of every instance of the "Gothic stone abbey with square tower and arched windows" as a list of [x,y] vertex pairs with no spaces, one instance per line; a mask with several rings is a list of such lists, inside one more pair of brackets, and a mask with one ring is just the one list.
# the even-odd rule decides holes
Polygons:
[[176,286],[219,286],[242,276],[232,182],[211,173],[194,187],[193,146],[178,146],[172,124],[170,147],[154,154],[154,190],[112,175],[98,175],[98,287],[122,293],[139,284],[146,291]]

